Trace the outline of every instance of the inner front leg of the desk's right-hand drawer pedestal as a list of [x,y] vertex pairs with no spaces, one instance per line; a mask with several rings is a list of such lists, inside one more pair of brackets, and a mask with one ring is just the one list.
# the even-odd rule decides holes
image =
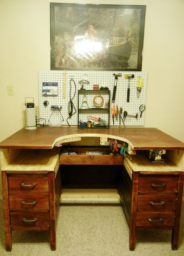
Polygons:
[[131,211],[131,217],[130,217],[130,237],[129,237],[130,251],[134,251],[135,249],[138,182],[139,182],[139,172],[133,172],[132,174],[132,211]]

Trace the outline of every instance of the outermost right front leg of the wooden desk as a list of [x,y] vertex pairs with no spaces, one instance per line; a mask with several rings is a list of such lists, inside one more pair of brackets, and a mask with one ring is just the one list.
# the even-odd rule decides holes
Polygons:
[[172,230],[172,240],[171,240],[172,250],[177,250],[177,247],[178,247],[183,184],[184,184],[184,173],[180,173],[179,182],[178,182],[178,194],[177,194],[177,203],[176,203],[175,223],[174,223],[174,229]]

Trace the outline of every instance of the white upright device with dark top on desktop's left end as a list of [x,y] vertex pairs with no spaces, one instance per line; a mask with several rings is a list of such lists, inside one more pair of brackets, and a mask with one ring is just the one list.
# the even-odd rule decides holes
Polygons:
[[36,129],[35,103],[26,103],[26,129]]

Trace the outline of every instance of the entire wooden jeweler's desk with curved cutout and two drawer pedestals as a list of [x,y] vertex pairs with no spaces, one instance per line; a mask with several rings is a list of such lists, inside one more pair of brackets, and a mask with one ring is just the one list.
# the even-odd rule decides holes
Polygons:
[[[67,156],[65,160],[61,155],[60,167],[76,163],[106,165],[112,172],[112,167],[119,166],[120,178],[116,186],[130,224],[130,250],[135,248],[137,229],[171,229],[172,249],[177,249],[184,181],[184,143],[156,128],[45,127],[21,129],[0,143],[7,251],[12,249],[12,230],[50,230],[51,249],[56,249],[62,170],[59,170],[58,148],[54,145],[102,147],[100,142],[106,139],[127,142],[130,155],[125,158],[77,155],[76,158]],[[166,149],[165,163],[151,163],[145,156],[149,149]]]

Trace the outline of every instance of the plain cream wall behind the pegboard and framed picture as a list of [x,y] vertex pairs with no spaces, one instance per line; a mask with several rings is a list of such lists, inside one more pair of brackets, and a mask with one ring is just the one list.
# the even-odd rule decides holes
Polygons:
[[[184,1],[64,0],[146,5],[142,71],[146,127],[184,142]],[[38,102],[38,70],[50,69],[50,1],[0,0],[0,141],[24,127],[24,98]],[[7,95],[14,86],[14,96]]]

